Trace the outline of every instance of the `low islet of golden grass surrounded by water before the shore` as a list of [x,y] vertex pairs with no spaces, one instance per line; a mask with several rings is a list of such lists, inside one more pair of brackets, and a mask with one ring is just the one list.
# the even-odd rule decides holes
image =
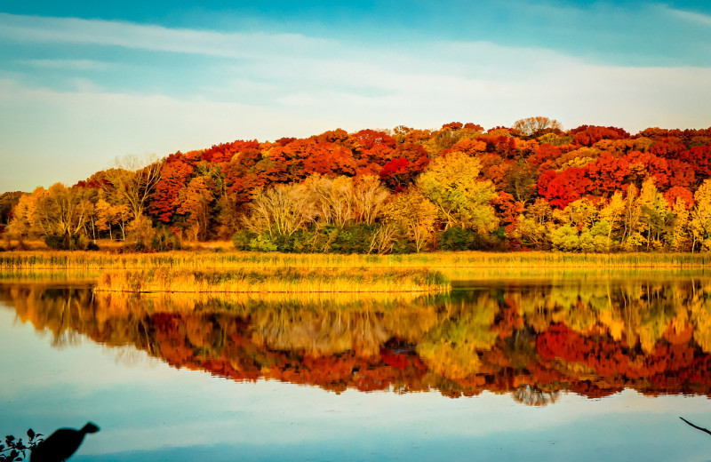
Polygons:
[[118,292],[441,292],[450,283],[441,273],[391,269],[156,268],[107,271],[96,291]]

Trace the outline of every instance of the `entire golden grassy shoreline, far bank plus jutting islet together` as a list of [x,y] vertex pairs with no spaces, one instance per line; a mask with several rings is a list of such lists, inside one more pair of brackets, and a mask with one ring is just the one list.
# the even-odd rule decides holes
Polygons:
[[554,282],[568,277],[591,280],[643,274],[659,280],[672,274],[708,277],[710,270],[711,254],[699,253],[0,253],[0,281],[62,280],[75,275],[98,281],[97,291],[116,292],[443,292],[491,280],[520,283],[546,278]]

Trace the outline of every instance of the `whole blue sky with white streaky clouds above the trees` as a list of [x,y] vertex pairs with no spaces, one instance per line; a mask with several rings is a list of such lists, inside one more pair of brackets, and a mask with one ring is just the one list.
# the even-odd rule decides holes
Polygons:
[[336,128],[711,125],[711,4],[0,1],[0,193]]

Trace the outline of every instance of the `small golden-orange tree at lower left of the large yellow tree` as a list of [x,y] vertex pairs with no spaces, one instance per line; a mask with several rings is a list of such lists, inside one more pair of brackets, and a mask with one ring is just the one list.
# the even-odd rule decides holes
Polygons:
[[416,189],[395,195],[385,208],[387,223],[395,224],[414,244],[415,250],[421,251],[432,238],[437,207],[429,202]]

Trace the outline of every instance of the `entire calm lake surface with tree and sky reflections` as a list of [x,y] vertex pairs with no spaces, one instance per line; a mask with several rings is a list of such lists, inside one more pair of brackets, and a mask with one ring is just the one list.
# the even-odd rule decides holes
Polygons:
[[0,281],[0,433],[73,460],[711,460],[711,279],[449,296],[142,296]]

